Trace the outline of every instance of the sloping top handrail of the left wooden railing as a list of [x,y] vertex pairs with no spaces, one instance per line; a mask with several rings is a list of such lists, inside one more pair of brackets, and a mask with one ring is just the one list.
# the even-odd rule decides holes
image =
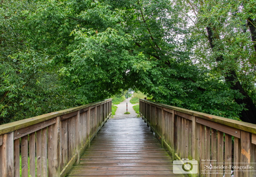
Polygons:
[[56,111],[56,112],[52,112],[52,113],[43,114],[43,115],[32,117],[32,118],[26,118],[26,119],[22,119],[22,120],[10,122],[10,123],[2,124],[2,125],[0,125],[0,135],[4,134],[4,133],[15,131],[15,130],[18,130],[18,129],[21,129],[21,128],[25,128],[25,127],[43,122],[45,120],[49,120],[51,118],[55,118],[55,117],[58,117],[58,116],[63,116],[63,115],[66,115],[66,114],[69,114],[69,113],[87,108],[89,106],[104,103],[108,100],[111,100],[111,98],[106,99],[104,101],[89,103],[89,104],[82,105],[82,106],[77,106],[77,107],[73,107],[73,108],[69,108],[69,109],[65,109],[65,110],[61,110],[61,111]]

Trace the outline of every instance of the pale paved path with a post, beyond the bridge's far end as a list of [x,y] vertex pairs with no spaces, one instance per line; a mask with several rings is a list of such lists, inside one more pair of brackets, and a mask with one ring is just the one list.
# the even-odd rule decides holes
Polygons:
[[[131,98],[132,97],[129,97],[120,104],[116,105],[118,108],[116,109],[115,116],[113,118],[137,118],[138,114],[136,114],[136,112],[133,109],[133,106],[135,104],[130,103]],[[128,107],[128,112],[131,114],[124,114],[126,113],[126,103]]]

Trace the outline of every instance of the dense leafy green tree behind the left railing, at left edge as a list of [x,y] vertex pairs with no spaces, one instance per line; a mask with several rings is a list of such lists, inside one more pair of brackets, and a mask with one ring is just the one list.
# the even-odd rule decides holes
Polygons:
[[70,13],[74,4],[0,2],[0,123],[88,103],[76,99],[57,73],[77,25]]

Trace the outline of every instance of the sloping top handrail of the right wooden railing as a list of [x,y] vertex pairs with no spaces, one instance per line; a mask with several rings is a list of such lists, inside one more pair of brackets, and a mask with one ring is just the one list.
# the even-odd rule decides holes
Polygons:
[[210,121],[213,121],[213,122],[217,122],[217,123],[220,123],[220,124],[223,124],[223,125],[227,125],[227,126],[230,126],[230,127],[233,127],[233,128],[237,128],[237,129],[240,129],[240,130],[244,130],[244,131],[256,134],[256,124],[253,124],[253,123],[248,123],[248,122],[243,122],[243,121],[239,121],[239,120],[233,120],[233,119],[230,119],[230,118],[214,116],[214,115],[201,113],[201,112],[197,112],[197,111],[192,111],[192,110],[179,108],[179,107],[175,107],[175,106],[170,106],[170,105],[166,105],[166,104],[162,104],[162,103],[156,103],[156,102],[146,100],[146,99],[140,99],[140,100],[146,101],[146,102],[149,102],[149,103],[153,103],[155,105],[158,105],[158,106],[161,106],[161,107],[164,107],[164,108],[179,111],[181,113],[189,114],[191,116],[207,119],[207,120],[210,120]]

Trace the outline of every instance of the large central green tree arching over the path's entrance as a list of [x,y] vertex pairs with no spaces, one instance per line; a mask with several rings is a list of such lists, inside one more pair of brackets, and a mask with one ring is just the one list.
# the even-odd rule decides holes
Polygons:
[[113,93],[132,87],[158,102],[238,118],[244,105],[233,100],[241,95],[228,89],[221,76],[193,64],[193,41],[185,38],[190,31],[179,10],[167,0],[114,0],[111,6],[98,1],[83,13],[83,20],[93,21],[73,31],[79,45],[73,46],[72,62],[63,71],[74,71],[81,88],[114,84],[107,91]]

